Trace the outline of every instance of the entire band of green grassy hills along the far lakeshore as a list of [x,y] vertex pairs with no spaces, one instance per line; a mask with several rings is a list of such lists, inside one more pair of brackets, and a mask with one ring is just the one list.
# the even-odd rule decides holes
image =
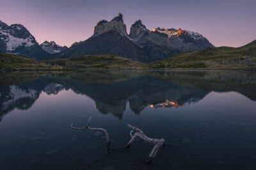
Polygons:
[[153,63],[140,63],[114,55],[79,56],[36,61],[0,53],[1,70],[177,69],[256,70],[256,40],[243,47],[217,47],[185,52]]

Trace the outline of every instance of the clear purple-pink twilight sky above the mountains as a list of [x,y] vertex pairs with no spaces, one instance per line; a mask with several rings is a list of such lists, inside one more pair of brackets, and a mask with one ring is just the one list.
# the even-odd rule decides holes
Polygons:
[[0,0],[0,20],[22,24],[38,43],[68,47],[93,35],[99,20],[123,14],[127,32],[138,19],[154,27],[202,34],[214,46],[240,47],[256,40],[256,0]]

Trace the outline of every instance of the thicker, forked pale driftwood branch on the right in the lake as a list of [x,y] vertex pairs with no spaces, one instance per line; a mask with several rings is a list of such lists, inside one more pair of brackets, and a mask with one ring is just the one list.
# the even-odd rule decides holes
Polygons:
[[[144,141],[148,142],[148,143],[154,143],[155,146],[153,148],[153,150],[151,151],[149,157],[153,158],[156,156],[157,151],[159,150],[159,148],[164,144],[164,139],[152,139],[147,137],[147,135],[145,135],[142,130],[140,130],[140,128],[136,128],[136,127],[132,127],[131,125],[127,125],[127,127],[131,128],[131,140],[129,141],[129,143],[127,144],[126,148],[129,148],[132,144],[132,142],[135,140],[136,137],[140,137],[141,139],[143,139]],[[134,135],[132,135],[132,132],[136,131]],[[147,161],[147,163],[151,162],[151,159]]]

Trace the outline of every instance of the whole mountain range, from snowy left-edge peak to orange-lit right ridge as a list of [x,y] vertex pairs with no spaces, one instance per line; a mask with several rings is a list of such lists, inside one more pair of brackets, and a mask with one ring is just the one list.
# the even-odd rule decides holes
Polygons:
[[214,47],[204,36],[182,29],[154,28],[152,31],[137,20],[128,35],[122,13],[112,20],[100,20],[93,35],[70,48],[55,42],[38,45],[35,37],[20,24],[8,26],[0,22],[0,51],[28,56],[34,59],[74,58],[84,54],[113,54],[150,63],[170,58],[182,52]]

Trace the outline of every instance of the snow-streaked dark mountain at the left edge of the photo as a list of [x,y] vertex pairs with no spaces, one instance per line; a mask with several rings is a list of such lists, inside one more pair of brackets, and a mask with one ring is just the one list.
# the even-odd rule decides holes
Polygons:
[[0,20],[0,51],[19,54],[34,59],[50,56],[36,42],[35,37],[21,24],[8,26]]

